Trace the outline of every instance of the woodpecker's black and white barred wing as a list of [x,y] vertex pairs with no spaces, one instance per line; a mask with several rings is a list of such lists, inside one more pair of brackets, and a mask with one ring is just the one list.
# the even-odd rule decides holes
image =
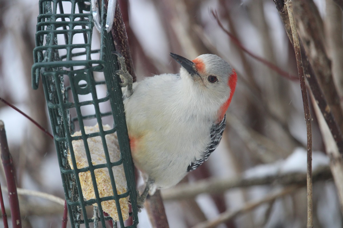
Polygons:
[[211,153],[217,148],[217,146],[220,143],[220,140],[222,139],[223,132],[225,129],[225,121],[226,121],[226,115],[224,116],[222,122],[218,124],[214,124],[211,128],[211,143],[206,148],[206,150],[203,153],[203,157],[198,160],[194,160],[187,168],[187,172],[196,170],[204,161],[206,161]]

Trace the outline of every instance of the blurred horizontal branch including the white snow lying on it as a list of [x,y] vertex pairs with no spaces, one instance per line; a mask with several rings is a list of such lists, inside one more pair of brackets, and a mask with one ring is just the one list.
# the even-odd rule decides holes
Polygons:
[[[314,151],[312,156],[313,182],[332,178],[329,158]],[[257,185],[306,185],[306,151],[296,149],[285,160],[264,164],[247,170],[237,178],[209,178],[195,183],[180,184],[162,191],[164,200],[181,200],[196,197],[201,193],[222,193],[232,188],[247,188]]]

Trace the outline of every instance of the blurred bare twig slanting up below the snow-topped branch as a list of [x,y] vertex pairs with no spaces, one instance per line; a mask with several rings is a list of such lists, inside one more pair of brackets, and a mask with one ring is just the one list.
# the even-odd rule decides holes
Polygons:
[[233,219],[234,217],[236,217],[237,215],[243,214],[245,212],[249,212],[253,209],[255,209],[256,207],[264,204],[264,203],[269,203],[271,201],[274,201],[275,199],[291,194],[292,192],[294,192],[295,190],[297,190],[299,187],[301,186],[289,186],[286,187],[285,189],[283,189],[280,192],[274,193],[272,195],[269,195],[259,201],[256,202],[250,202],[245,204],[243,207],[235,210],[235,211],[226,211],[222,214],[220,214],[218,217],[216,217],[215,219],[203,222],[203,223],[199,223],[198,225],[194,226],[193,228],[211,228],[211,227],[216,227],[221,223],[224,223],[230,219]]

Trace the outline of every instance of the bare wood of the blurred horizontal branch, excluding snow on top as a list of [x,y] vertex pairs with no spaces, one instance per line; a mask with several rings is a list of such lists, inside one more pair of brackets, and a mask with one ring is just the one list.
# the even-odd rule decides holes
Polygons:
[[[332,178],[328,166],[319,167],[312,173],[314,182]],[[210,178],[203,179],[190,184],[179,184],[178,186],[162,191],[164,200],[180,200],[196,197],[201,193],[222,193],[232,188],[246,188],[256,185],[294,185],[306,184],[305,173],[284,173],[264,177],[237,177],[233,179]]]

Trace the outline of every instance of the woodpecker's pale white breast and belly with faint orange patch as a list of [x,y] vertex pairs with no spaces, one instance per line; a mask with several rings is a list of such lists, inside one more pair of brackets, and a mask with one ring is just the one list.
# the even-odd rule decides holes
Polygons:
[[216,107],[172,74],[138,83],[124,105],[135,165],[156,187],[177,184],[209,145]]

